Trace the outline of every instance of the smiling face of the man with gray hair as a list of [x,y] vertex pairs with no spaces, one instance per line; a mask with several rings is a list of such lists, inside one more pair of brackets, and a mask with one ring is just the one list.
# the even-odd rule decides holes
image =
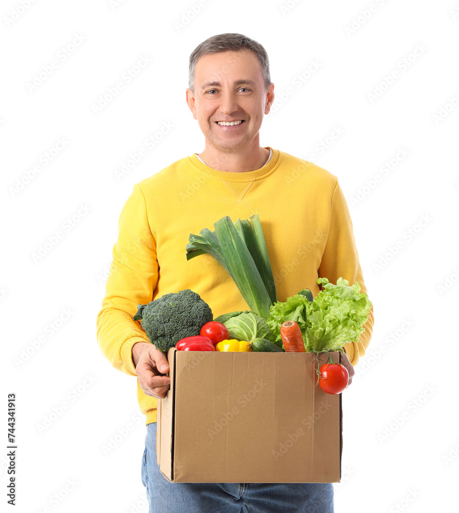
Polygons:
[[[268,91],[261,65],[250,50],[204,55],[196,64],[194,94],[187,89],[187,103],[206,137],[206,147],[217,150],[247,149],[259,145],[263,115],[269,112],[274,93]],[[218,122],[237,122],[222,126]]]

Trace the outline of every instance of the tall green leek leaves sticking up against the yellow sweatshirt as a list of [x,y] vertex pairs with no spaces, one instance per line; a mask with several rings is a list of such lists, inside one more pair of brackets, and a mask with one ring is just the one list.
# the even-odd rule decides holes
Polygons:
[[235,223],[225,216],[200,235],[190,234],[187,260],[209,253],[230,274],[251,311],[264,319],[277,301],[274,277],[258,214]]

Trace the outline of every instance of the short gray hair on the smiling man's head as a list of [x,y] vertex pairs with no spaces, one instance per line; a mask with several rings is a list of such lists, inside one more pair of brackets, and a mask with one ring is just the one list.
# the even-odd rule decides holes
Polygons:
[[269,73],[269,61],[266,50],[260,43],[257,43],[250,37],[243,34],[226,33],[213,35],[198,45],[190,55],[188,87],[194,94],[194,74],[196,71],[196,63],[199,58],[211,53],[241,51],[248,49],[252,51],[258,58],[262,67],[263,78],[265,80],[265,88],[268,90],[271,84],[271,76]]

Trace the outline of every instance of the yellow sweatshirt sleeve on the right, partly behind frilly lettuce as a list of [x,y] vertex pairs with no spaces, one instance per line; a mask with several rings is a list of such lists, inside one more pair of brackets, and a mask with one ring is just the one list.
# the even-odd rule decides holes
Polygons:
[[[361,286],[361,292],[367,292],[358,260],[349,208],[337,181],[330,204],[328,239],[318,272],[320,278],[327,278],[331,283],[336,283],[338,278],[344,278],[350,284],[357,282]],[[355,366],[359,358],[364,356],[370,344],[373,322],[374,315],[371,308],[364,325],[365,331],[360,338],[356,342],[348,342],[344,345],[352,366]]]

